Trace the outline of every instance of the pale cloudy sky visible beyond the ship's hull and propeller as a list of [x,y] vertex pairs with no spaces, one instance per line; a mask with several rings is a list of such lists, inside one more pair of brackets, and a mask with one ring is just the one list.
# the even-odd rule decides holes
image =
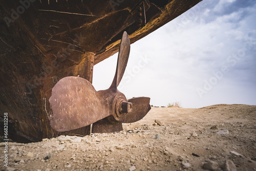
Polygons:
[[[256,1],[204,0],[131,45],[118,86],[154,106],[256,105]],[[117,55],[94,66],[93,86],[108,89]]]

